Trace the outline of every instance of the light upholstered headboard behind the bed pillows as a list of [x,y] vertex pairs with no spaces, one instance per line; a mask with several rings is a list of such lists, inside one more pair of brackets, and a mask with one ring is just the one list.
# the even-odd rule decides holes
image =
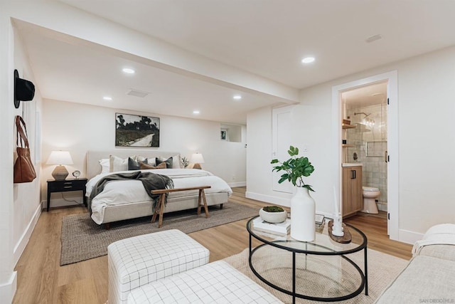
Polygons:
[[[121,158],[139,155],[146,158],[152,157],[173,157],[180,155],[180,152],[165,152],[159,150],[139,150],[139,149],[115,149],[106,151],[87,151],[87,178],[91,179],[95,175],[101,173],[100,159],[108,159],[110,155],[115,155]],[[180,162],[180,159],[178,159]]]

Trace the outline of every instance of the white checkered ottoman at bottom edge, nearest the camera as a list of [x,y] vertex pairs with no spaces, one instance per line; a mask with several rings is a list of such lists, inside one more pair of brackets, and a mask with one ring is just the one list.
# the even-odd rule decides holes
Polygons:
[[139,303],[282,302],[225,261],[216,261],[133,290],[128,304]]

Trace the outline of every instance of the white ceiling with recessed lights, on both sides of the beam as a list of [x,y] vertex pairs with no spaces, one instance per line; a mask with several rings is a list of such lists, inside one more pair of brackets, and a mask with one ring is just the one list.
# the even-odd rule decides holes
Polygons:
[[[301,89],[455,45],[454,0],[60,0],[213,61]],[[378,41],[368,37],[380,34]],[[21,29],[44,98],[245,123],[279,103]],[[301,58],[316,61],[302,65]],[[137,67],[127,77],[126,64]],[[151,92],[125,95],[130,88]],[[242,100],[232,95],[242,93]],[[103,95],[112,95],[107,104]]]

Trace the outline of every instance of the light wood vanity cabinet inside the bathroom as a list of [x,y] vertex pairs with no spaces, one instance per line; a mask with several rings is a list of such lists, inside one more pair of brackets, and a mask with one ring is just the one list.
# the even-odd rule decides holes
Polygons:
[[362,166],[343,167],[343,216],[363,209]]

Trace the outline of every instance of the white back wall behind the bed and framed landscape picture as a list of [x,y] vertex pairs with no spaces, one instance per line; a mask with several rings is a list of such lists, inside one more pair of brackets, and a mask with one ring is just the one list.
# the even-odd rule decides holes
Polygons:
[[[92,105],[68,103],[58,100],[43,102],[43,179],[41,197],[46,199],[47,179],[52,179],[55,166],[46,165],[50,152],[68,150],[74,165],[65,166],[68,172],[79,170],[86,177],[85,154],[87,150],[113,150],[115,148],[115,113],[160,117],[160,147],[146,150],[176,151],[182,157],[203,154],[202,164],[213,174],[225,179],[232,187],[245,185],[245,142],[220,140],[220,122],[156,115],[153,112],[116,110]],[[75,193],[77,196],[77,193]],[[72,194],[65,194],[65,197]],[[80,195],[79,195],[80,196]],[[51,194],[51,206],[67,204],[61,194]],[[58,201],[60,199],[60,201]],[[81,201],[81,199],[79,199]],[[68,203],[73,204],[73,203]]]

